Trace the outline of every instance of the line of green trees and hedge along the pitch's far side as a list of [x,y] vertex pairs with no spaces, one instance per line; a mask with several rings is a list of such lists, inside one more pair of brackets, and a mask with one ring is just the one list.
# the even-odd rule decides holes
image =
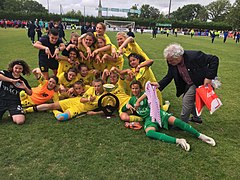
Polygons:
[[[136,5],[131,9],[137,10]],[[112,20],[135,21],[137,26],[153,27],[156,23],[170,23],[172,27],[187,27],[200,29],[239,29],[240,27],[240,0],[233,4],[229,0],[216,0],[206,6],[189,4],[169,15],[164,15],[159,9],[144,4],[140,7],[141,13],[128,13],[128,17],[107,17]],[[34,0],[1,0],[0,19],[33,20],[60,20],[62,17],[77,18],[80,21],[99,22],[106,17],[83,17],[81,11],[69,11],[65,14],[48,13],[48,10]],[[211,22],[209,22],[211,21]]]

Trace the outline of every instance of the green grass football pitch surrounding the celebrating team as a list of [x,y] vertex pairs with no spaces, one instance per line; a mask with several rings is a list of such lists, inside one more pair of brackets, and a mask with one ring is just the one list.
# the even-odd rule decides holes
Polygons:
[[[67,35],[70,31],[66,32]],[[112,42],[116,33],[108,33]],[[85,116],[57,122],[51,113],[27,114],[18,126],[7,114],[0,121],[0,179],[238,179],[240,178],[239,79],[240,44],[226,44],[209,37],[136,34],[136,41],[155,62],[152,69],[160,80],[167,71],[163,49],[172,42],[185,49],[201,50],[220,58],[218,75],[222,87],[216,90],[223,106],[210,115],[204,109],[201,125],[191,124],[213,137],[211,147],[188,133],[162,132],[186,138],[191,151],[174,144],[147,138],[143,130],[126,129],[119,118]],[[9,61],[26,60],[38,66],[38,50],[31,45],[24,29],[0,29],[0,69]],[[127,63],[125,64],[127,66]],[[37,82],[27,77],[31,86]],[[170,112],[179,117],[181,98],[175,96],[173,82],[163,97],[171,102]]]

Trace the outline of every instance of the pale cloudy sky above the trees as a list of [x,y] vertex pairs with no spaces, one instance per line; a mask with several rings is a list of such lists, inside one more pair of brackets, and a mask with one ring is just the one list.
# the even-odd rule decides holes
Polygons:
[[[99,0],[36,0],[40,4],[42,4],[46,9],[48,9],[51,13],[60,14],[60,4],[62,6],[62,12],[67,13],[72,9],[75,11],[80,10],[84,15],[93,15],[97,16],[98,2]],[[201,4],[203,6],[208,5],[214,0],[171,0],[171,12],[178,9],[178,7],[183,7],[188,4]],[[169,2],[170,0],[101,0],[102,7],[106,8],[120,8],[120,9],[130,9],[132,6],[137,5],[140,7],[143,4],[149,4],[163,12],[164,14],[168,14],[169,10]],[[235,0],[230,0],[230,3],[233,4]],[[122,16],[126,17],[127,13],[120,12],[111,12],[111,11],[103,11],[103,16]]]

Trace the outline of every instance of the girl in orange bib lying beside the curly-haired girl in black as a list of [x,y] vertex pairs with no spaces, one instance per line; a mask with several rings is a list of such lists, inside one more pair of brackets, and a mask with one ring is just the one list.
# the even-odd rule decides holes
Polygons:
[[45,80],[39,68],[33,69],[32,73],[37,78],[39,86],[32,88],[32,95],[21,91],[20,99],[22,106],[30,107],[46,103],[49,100],[58,101],[58,77],[53,75],[50,76],[49,80]]

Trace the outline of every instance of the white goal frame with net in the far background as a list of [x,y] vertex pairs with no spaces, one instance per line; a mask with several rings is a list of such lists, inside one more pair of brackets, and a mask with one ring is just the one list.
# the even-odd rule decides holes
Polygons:
[[134,21],[104,20],[107,31],[128,31],[129,28],[135,28]]

